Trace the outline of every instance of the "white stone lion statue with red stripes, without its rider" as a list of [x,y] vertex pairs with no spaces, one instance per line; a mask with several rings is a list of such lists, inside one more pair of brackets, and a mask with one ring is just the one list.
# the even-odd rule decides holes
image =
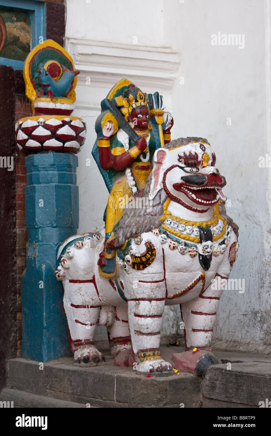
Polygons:
[[[228,279],[239,248],[215,160],[203,138],[179,138],[155,151],[143,193],[148,208],[131,202],[115,232],[115,277],[98,271],[104,230],[60,246],[56,276],[75,361],[103,360],[94,344],[99,324],[107,326],[115,364],[136,363],[139,373],[171,371],[159,345],[164,306],[172,304],[181,307],[186,350],[211,351],[221,279]],[[222,286],[212,286],[218,278]]]

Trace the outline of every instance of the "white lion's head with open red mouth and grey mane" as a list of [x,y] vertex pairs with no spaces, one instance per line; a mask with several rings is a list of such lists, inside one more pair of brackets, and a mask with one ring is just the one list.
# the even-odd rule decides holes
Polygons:
[[222,188],[226,180],[215,167],[215,161],[214,151],[204,138],[178,138],[157,149],[153,157],[153,170],[144,192],[140,193],[152,200],[152,208],[123,210],[123,218],[114,231],[116,246],[123,245],[131,237],[158,228],[168,197],[199,214],[221,200],[221,212],[225,214],[223,202],[226,197]]

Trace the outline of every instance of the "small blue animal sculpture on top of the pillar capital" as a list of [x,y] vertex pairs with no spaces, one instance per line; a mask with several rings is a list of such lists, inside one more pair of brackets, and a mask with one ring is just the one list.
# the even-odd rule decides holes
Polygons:
[[37,93],[37,97],[40,97],[43,94],[46,94],[49,98],[66,97],[71,82],[80,71],[70,71],[64,65],[61,66],[63,68],[63,73],[59,79],[53,79],[44,67],[39,68],[39,83],[41,88]]

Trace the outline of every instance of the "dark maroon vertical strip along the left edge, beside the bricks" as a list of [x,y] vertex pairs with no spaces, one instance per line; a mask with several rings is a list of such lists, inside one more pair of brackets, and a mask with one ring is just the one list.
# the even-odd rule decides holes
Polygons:
[[[1,157],[14,158],[15,74],[0,65]],[[13,159],[14,160],[14,159]],[[2,162],[1,162],[2,164]],[[15,162],[13,162],[13,165]],[[1,243],[0,243],[0,389],[7,378],[6,361],[16,356],[16,207],[15,170],[0,168]]]

